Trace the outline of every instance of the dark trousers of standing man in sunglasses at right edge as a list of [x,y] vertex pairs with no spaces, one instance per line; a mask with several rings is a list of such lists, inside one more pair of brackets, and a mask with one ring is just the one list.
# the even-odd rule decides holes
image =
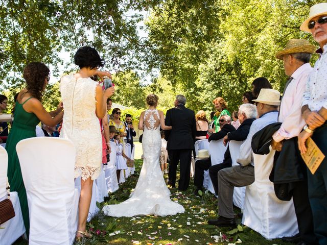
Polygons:
[[327,126],[316,129],[313,141],[325,155],[315,174],[308,169],[308,191],[315,235],[319,244],[327,244]]

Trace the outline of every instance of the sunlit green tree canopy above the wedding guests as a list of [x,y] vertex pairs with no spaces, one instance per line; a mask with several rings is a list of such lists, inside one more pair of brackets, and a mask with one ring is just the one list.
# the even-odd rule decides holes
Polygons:
[[[299,26],[317,0],[0,0],[0,92],[22,86],[27,63],[55,67],[62,51],[74,54],[94,46],[116,70],[113,98],[137,109],[147,93],[162,108],[185,94],[193,110],[213,110],[222,96],[229,110],[240,105],[256,77],[267,77],[280,91],[287,80],[274,55],[290,38],[309,39]],[[148,12],[145,24],[144,13]],[[140,36],[141,29],[147,33]],[[72,57],[71,57],[72,58]],[[313,57],[312,62],[317,57]],[[144,83],[139,72],[152,75]],[[158,75],[155,75],[158,74]],[[49,86],[44,102],[55,106],[58,85]],[[8,91],[8,90],[6,90]]]

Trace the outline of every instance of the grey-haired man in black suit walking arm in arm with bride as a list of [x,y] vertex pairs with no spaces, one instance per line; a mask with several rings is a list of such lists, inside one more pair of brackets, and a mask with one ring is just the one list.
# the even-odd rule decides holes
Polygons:
[[186,98],[184,95],[177,95],[174,102],[175,108],[169,109],[166,114],[166,126],[173,129],[165,131],[165,138],[168,141],[167,150],[169,155],[169,181],[175,187],[176,170],[178,162],[179,181],[178,189],[186,190],[189,187],[191,171],[191,154],[194,149],[196,134],[196,121],[194,111],[185,107]]

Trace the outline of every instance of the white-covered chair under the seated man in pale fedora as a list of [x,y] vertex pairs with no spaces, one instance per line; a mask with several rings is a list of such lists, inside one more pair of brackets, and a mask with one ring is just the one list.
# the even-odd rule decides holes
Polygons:
[[275,151],[267,155],[253,154],[254,183],[246,187],[242,223],[267,239],[293,236],[298,233],[291,201],[279,200],[269,175]]

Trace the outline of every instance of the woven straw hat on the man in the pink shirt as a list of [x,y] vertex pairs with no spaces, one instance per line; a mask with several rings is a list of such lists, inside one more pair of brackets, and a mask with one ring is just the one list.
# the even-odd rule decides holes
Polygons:
[[295,54],[295,53],[309,53],[313,54],[316,50],[314,45],[311,45],[308,40],[305,39],[290,39],[284,50],[281,50],[275,54],[275,57],[279,60],[283,60],[283,55]]

